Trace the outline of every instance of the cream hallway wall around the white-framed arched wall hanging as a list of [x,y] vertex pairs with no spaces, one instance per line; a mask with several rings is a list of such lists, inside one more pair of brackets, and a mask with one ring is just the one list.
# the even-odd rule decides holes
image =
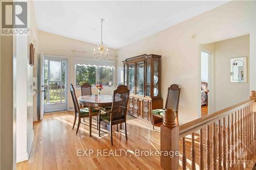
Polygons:
[[[215,108],[213,111],[219,111],[249,99],[249,79],[247,83],[230,82],[230,59],[237,57],[250,59],[249,46],[249,35],[215,42]],[[249,62],[250,60],[247,61]],[[249,64],[247,64],[247,70],[250,70]],[[247,71],[247,78],[249,77],[250,72]]]

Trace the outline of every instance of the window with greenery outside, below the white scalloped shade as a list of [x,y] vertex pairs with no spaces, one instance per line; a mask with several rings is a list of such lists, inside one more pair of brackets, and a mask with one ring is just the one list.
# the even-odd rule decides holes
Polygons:
[[88,82],[92,86],[96,83],[103,86],[113,85],[114,67],[91,66],[91,65],[76,65],[75,66],[76,87]]

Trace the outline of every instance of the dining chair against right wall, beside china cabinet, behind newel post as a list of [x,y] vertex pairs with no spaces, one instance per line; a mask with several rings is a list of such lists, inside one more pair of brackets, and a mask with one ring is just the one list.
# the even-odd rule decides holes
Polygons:
[[180,101],[180,90],[181,88],[177,84],[172,84],[168,87],[167,99],[164,109],[152,110],[153,115],[153,129],[155,129],[155,117],[163,118],[163,113],[166,108],[174,109],[176,112],[176,124],[179,126],[178,108]]

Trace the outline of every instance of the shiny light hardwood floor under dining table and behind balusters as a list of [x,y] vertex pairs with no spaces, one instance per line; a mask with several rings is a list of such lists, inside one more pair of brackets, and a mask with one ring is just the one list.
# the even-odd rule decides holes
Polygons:
[[[86,118],[86,125],[80,125],[76,135],[76,126],[72,130],[73,112],[46,114],[42,121],[34,122],[35,135],[30,159],[17,163],[17,169],[162,169],[160,156],[136,155],[138,150],[160,151],[160,132],[153,130],[152,125],[144,120],[130,115],[127,116],[127,119],[128,140],[125,140],[123,129],[116,132],[116,126],[113,126],[114,145],[112,147],[109,131],[103,123],[101,124],[101,137],[98,137],[95,119],[93,120],[92,137],[89,136],[88,118]],[[159,127],[155,128],[159,130]],[[205,128],[203,134],[204,158],[206,158]],[[197,134],[195,134],[195,140],[196,169],[199,169],[199,136]],[[186,136],[185,145],[187,168],[191,169],[191,135]],[[89,154],[90,149],[93,151],[91,154]],[[97,149],[101,151],[101,154],[97,154]],[[87,155],[82,156],[86,150]],[[113,156],[111,152],[115,154],[115,151],[117,152],[116,156]],[[103,152],[105,152],[105,156]],[[181,139],[180,154],[182,154]],[[180,165],[181,161],[180,156]],[[204,166],[206,166],[206,162]],[[181,166],[180,169],[182,169]]]

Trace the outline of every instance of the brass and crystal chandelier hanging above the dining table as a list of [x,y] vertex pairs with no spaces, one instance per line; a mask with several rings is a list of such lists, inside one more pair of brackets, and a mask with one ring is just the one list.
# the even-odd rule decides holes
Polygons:
[[101,42],[98,42],[97,52],[95,49],[93,50],[93,55],[95,60],[108,60],[109,49],[106,47],[106,44],[104,44],[102,41],[102,22],[104,21],[104,19],[100,18],[99,20],[101,21]]

